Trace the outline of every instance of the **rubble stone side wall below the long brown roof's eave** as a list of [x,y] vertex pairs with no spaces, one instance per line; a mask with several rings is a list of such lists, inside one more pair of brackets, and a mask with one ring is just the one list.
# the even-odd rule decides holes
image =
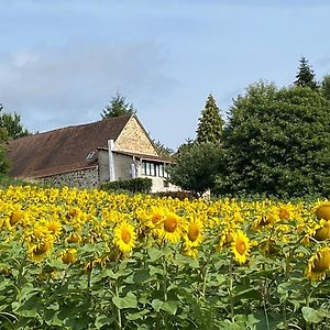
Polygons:
[[68,172],[40,178],[40,183],[51,186],[68,186],[76,188],[98,187],[98,168]]

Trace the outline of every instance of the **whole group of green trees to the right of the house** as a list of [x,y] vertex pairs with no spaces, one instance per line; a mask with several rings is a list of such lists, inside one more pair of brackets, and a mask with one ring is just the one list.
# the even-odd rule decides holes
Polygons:
[[195,141],[175,154],[172,182],[201,195],[330,196],[330,76],[306,58],[292,86],[258,81],[233,100],[224,123],[210,95]]

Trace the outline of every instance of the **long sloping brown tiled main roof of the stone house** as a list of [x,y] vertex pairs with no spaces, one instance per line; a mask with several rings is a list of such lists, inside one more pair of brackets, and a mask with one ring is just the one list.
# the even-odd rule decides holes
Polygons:
[[[96,166],[98,147],[116,141],[132,114],[24,136],[9,143],[10,175],[41,177]],[[87,158],[90,154],[91,157]]]

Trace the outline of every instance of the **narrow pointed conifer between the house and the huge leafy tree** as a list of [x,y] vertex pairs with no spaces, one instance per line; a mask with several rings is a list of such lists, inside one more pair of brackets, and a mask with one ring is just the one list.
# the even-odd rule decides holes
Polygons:
[[201,111],[199,123],[197,127],[198,143],[212,142],[220,143],[222,140],[223,120],[220,116],[219,108],[212,95],[208,96],[206,106]]

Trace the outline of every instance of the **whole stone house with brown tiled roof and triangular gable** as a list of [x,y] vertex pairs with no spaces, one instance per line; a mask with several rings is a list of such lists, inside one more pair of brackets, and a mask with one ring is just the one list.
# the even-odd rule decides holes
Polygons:
[[67,127],[9,143],[10,176],[70,187],[148,177],[152,191],[177,190],[168,183],[168,160],[138,119],[127,114]]

